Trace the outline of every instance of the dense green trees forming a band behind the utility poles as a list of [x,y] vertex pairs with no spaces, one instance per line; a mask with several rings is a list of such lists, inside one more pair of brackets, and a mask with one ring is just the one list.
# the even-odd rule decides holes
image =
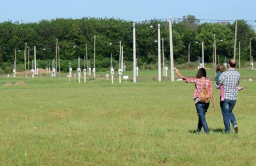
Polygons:
[[[151,20],[136,23],[137,55],[139,65],[155,64],[157,61],[157,24],[161,24],[161,38],[164,38],[164,52],[167,58],[170,57],[169,48],[169,25],[162,20]],[[150,26],[153,28],[150,28]],[[201,41],[204,41],[205,61],[212,61],[213,34],[217,42],[217,54],[220,61],[224,56],[233,56],[234,47],[234,23],[217,22],[202,23],[194,16],[184,17],[182,21],[173,22],[173,44],[174,57],[177,63],[187,61],[188,44],[190,41],[199,41],[191,45],[191,59],[197,60],[197,55],[201,55]],[[30,46],[30,57],[33,55],[33,46],[37,47],[37,58],[42,61],[41,66],[46,67],[46,61],[55,58],[56,39],[59,39],[61,68],[65,70],[69,59],[76,59],[85,55],[85,43],[88,45],[88,57],[93,57],[93,35],[96,35],[96,66],[100,68],[108,67],[110,54],[118,62],[119,46],[118,41],[122,41],[124,46],[124,59],[127,63],[132,61],[132,22],[120,19],[107,18],[82,18],[82,19],[54,19],[41,20],[38,23],[3,22],[0,23],[0,46],[1,46],[1,67],[10,66],[14,61],[14,49],[17,52],[18,70],[19,64],[24,63],[25,42]],[[237,41],[241,41],[241,59],[249,60],[249,39],[255,36],[252,26],[244,20],[238,22]],[[109,45],[109,43],[113,43]],[[238,52],[237,42],[237,52]],[[73,48],[73,46],[76,46]],[[252,41],[253,50],[256,50],[256,43]],[[43,50],[43,49],[46,50]],[[237,53],[238,54],[238,53]],[[255,55],[255,52],[253,52]],[[30,58],[31,59],[31,58]],[[5,65],[3,62],[7,62]],[[22,67],[24,65],[20,65]],[[9,67],[10,68],[10,67]],[[24,67],[23,67],[24,69]]]

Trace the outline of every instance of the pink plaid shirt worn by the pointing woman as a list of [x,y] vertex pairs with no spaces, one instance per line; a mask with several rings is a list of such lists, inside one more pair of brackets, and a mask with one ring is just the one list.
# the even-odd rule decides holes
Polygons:
[[205,77],[201,77],[200,79],[199,78],[187,78],[185,81],[186,82],[191,82],[191,83],[195,84],[195,90],[194,90],[194,97],[193,97],[193,99],[195,99],[195,98],[200,96],[198,91],[202,92],[202,86],[203,85],[209,90],[210,95],[213,97],[211,81],[207,80]]

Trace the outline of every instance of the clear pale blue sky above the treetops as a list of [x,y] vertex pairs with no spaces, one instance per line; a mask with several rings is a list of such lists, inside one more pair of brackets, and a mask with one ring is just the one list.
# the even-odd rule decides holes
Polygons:
[[192,14],[199,19],[256,20],[255,0],[1,0],[0,22],[107,17],[143,21]]

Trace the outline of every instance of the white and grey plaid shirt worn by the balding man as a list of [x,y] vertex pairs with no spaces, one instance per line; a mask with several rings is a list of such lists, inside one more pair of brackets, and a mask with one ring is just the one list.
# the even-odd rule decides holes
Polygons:
[[[240,74],[234,68],[227,69],[219,76],[219,82],[222,83],[224,88],[224,99],[236,100],[239,81]],[[215,85],[215,87],[219,88],[218,85]]]

